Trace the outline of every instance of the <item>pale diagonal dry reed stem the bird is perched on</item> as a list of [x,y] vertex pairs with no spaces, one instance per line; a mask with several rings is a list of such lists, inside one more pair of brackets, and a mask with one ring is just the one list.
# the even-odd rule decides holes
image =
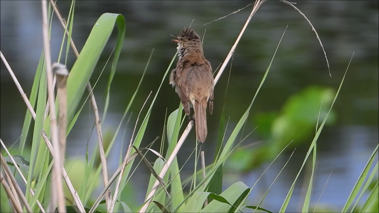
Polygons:
[[[218,79],[220,78],[222,72],[224,71],[226,65],[229,63],[230,58],[232,58],[234,50],[236,49],[236,47],[238,45],[238,42],[240,41],[240,39],[242,37],[242,34],[244,33],[247,25],[249,24],[249,22],[251,20],[251,17],[255,14],[255,12],[260,7],[260,5],[262,5],[263,2],[265,2],[265,0],[257,0],[257,1],[255,1],[254,7],[253,7],[253,9],[252,9],[249,17],[247,18],[245,25],[243,26],[240,34],[238,35],[238,37],[237,37],[237,39],[236,39],[236,41],[234,43],[234,45],[232,46],[232,49],[230,49],[229,54],[227,55],[224,63],[221,65],[220,70],[219,70],[219,72],[217,73],[217,75],[215,77],[215,80],[214,80],[215,85],[216,85]],[[159,174],[159,176],[161,178],[164,177],[164,175],[168,171],[169,166],[171,166],[172,161],[174,160],[174,158],[176,157],[177,153],[179,152],[180,147],[182,147],[182,145],[184,143],[184,140],[187,138],[189,131],[191,131],[191,128],[193,127],[193,124],[194,124],[194,122],[190,121],[188,123],[187,127],[185,128],[185,130],[184,130],[182,136],[180,137],[178,143],[176,144],[174,150],[172,150],[172,153],[171,153],[169,159],[167,160],[167,164],[164,164],[164,166],[163,166],[163,168],[162,168],[162,170],[161,170],[161,172]],[[151,199],[154,196],[155,192],[157,191],[158,186],[159,186],[159,182],[158,182],[158,180],[156,180],[155,183],[154,183],[154,185],[153,185],[153,187],[152,187],[152,189],[151,189],[151,191],[150,191],[150,193],[148,194],[148,196],[147,196],[147,198],[145,200],[145,205],[139,210],[140,213],[145,212],[147,210],[147,207],[151,203]]]

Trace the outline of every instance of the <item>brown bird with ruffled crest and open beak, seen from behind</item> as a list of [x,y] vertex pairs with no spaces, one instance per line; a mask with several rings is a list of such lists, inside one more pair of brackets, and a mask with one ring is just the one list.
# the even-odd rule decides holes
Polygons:
[[179,61],[171,71],[170,84],[179,95],[187,116],[190,108],[194,109],[197,140],[204,143],[207,137],[207,103],[209,113],[213,111],[213,74],[212,67],[204,57],[200,36],[192,29],[186,28],[173,39],[178,43]]

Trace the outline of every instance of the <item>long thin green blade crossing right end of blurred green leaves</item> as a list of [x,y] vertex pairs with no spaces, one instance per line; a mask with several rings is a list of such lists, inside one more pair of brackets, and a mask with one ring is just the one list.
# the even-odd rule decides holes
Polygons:
[[[354,56],[354,53],[353,53],[352,56]],[[351,63],[352,56],[351,56],[351,59],[350,59],[349,65],[350,65],[350,63]],[[301,168],[300,168],[298,174],[296,175],[295,180],[293,181],[293,183],[292,183],[292,185],[291,185],[291,187],[290,187],[290,190],[288,191],[287,196],[285,197],[285,199],[284,199],[284,201],[283,201],[283,204],[282,204],[282,207],[280,208],[279,212],[285,212],[285,210],[286,210],[286,208],[287,208],[287,206],[288,206],[288,202],[290,202],[291,195],[292,195],[292,192],[293,192],[293,189],[294,189],[294,186],[295,186],[296,180],[298,179],[298,177],[299,177],[299,175],[300,175],[300,172],[302,171],[302,169],[303,169],[303,167],[304,167],[304,165],[305,165],[305,162],[307,162],[308,157],[309,157],[309,155],[310,155],[310,152],[312,151],[313,147],[315,146],[316,140],[318,139],[319,135],[321,134],[321,131],[323,130],[323,127],[324,127],[324,125],[325,125],[326,119],[328,118],[328,115],[329,115],[330,111],[332,110],[333,105],[334,105],[334,103],[335,103],[335,100],[337,99],[338,94],[339,94],[339,92],[340,92],[340,90],[341,90],[341,87],[342,87],[343,81],[345,80],[346,72],[348,72],[348,69],[349,69],[349,65],[348,65],[348,67],[346,68],[346,71],[345,71],[345,74],[343,75],[343,78],[342,78],[342,80],[341,80],[340,86],[338,87],[337,93],[336,93],[335,96],[334,96],[334,100],[333,100],[333,102],[332,102],[332,105],[330,106],[330,109],[329,109],[328,113],[326,114],[326,116],[325,116],[323,122],[321,123],[320,127],[318,128],[318,130],[317,130],[317,132],[316,132],[316,136],[313,138],[313,141],[312,141],[312,143],[310,144],[309,150],[308,150],[308,152],[307,152],[307,155],[305,156],[305,159],[304,159],[304,161],[303,161],[303,164],[301,165]]]

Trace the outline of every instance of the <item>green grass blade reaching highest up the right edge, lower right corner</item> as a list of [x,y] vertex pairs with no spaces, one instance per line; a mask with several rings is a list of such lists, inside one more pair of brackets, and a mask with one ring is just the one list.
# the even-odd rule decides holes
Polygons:
[[363,185],[363,182],[365,181],[365,179],[367,177],[368,172],[370,171],[371,165],[373,164],[376,153],[378,151],[378,147],[379,147],[379,145],[376,146],[374,152],[371,154],[371,157],[367,161],[365,168],[363,168],[362,173],[359,175],[359,178],[358,178],[356,184],[354,185],[353,189],[351,190],[351,193],[350,193],[348,199],[346,200],[346,203],[345,203],[344,207],[342,208],[341,212],[347,212],[349,210],[349,208],[351,207],[354,199],[356,198],[358,192],[360,191],[360,188]]

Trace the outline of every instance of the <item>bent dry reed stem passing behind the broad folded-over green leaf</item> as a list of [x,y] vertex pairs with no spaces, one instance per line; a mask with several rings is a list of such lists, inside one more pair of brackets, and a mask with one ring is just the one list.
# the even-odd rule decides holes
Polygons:
[[[63,29],[67,29],[67,24],[63,20],[63,17],[61,15],[58,7],[56,6],[55,2],[53,0],[50,0],[50,4],[53,6],[55,14],[58,17]],[[67,34],[67,36],[69,35],[69,32],[67,30],[66,30],[66,34]],[[75,56],[78,58],[79,52],[78,52],[72,38],[70,38],[70,45],[71,45],[72,49],[74,50]],[[95,96],[92,92],[92,86],[89,82],[87,84],[87,90],[88,90],[89,97],[90,97],[91,104],[92,104],[92,108],[93,108],[94,114],[95,114],[95,126],[96,126],[96,132],[97,132],[97,141],[99,143],[100,161],[101,161],[101,165],[102,165],[103,181],[104,181],[104,187],[105,187],[106,185],[108,185],[108,169],[106,166],[106,158],[105,158],[105,151],[104,151],[104,145],[103,145],[104,144],[103,143],[103,136],[102,136],[102,130],[101,130],[101,125],[100,125],[101,122],[100,122],[99,110],[98,110],[97,104],[96,104],[96,99],[95,99]],[[106,207],[108,210],[109,210],[111,201],[112,201],[111,189],[109,188],[109,190],[105,194],[105,202],[106,202]]]

